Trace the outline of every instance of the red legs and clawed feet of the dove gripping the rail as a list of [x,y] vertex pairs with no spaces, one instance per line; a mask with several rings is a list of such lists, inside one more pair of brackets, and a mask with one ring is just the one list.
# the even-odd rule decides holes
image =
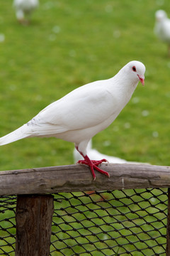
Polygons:
[[[77,146],[76,146],[76,149],[77,149],[77,151],[79,151]],[[81,151],[79,151],[79,153],[81,154],[81,156],[84,157],[84,160],[79,160],[77,162],[77,164],[86,164],[87,166],[89,166],[90,169],[91,169],[91,174],[94,177],[94,181],[96,180],[96,175],[94,173],[94,169],[96,169],[96,171],[99,171],[101,174],[105,174],[106,176],[108,176],[108,178],[110,177],[110,175],[108,174],[107,171],[103,171],[102,169],[98,168],[99,164],[103,163],[103,161],[104,162],[107,161],[106,159],[101,159],[101,160],[98,160],[98,161],[97,160],[91,160],[91,159],[89,159],[89,156],[87,156],[87,155],[84,156],[84,154],[82,154]]]

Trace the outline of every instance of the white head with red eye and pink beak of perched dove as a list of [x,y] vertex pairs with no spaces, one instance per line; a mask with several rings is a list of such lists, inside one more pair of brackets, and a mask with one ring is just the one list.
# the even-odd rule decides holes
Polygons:
[[132,83],[141,82],[145,85],[145,65],[137,60],[132,60],[123,67],[123,71]]

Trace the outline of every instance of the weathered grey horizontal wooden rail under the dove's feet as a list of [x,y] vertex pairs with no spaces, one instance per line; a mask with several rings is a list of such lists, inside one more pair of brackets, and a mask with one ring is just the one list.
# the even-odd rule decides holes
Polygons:
[[0,196],[69,191],[170,187],[170,167],[147,164],[101,164],[111,178],[96,171],[93,181],[88,166],[52,166],[0,172]]

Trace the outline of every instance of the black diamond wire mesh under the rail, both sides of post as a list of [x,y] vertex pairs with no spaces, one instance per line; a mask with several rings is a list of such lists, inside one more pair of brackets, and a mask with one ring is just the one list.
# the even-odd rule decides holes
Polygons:
[[[54,196],[50,256],[165,256],[166,188]],[[16,196],[0,202],[0,255],[13,256]]]

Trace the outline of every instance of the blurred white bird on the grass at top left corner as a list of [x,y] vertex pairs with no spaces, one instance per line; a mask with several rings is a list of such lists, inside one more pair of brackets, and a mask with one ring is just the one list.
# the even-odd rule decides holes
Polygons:
[[[38,0],[13,0],[16,9],[16,18],[20,23],[28,24],[31,13],[39,5]],[[26,19],[26,16],[28,19]]]

